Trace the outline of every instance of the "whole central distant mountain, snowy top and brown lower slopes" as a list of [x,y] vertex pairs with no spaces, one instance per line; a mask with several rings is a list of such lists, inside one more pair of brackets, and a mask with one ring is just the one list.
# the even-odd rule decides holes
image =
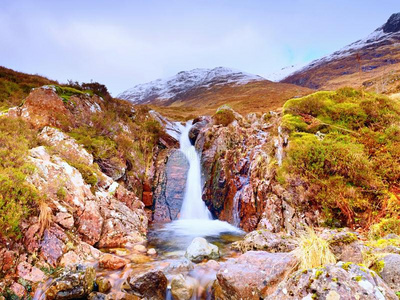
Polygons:
[[162,107],[172,118],[210,114],[223,104],[241,113],[276,109],[294,97],[309,94],[308,88],[275,83],[242,71],[217,67],[182,71],[167,79],[139,84],[118,98],[134,104]]

